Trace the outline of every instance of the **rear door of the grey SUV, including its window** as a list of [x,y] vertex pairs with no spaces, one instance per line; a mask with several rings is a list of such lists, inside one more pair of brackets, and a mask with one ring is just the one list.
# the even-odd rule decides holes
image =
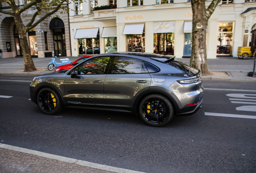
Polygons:
[[136,97],[149,90],[150,83],[151,76],[143,61],[113,57],[104,81],[104,103],[106,106],[131,108]]

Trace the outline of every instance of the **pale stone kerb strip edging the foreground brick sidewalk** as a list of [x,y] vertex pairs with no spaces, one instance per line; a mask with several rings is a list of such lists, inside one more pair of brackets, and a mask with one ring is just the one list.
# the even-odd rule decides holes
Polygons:
[[6,144],[1,144],[1,143],[0,143],[0,148],[9,149],[9,150],[13,150],[13,151],[19,151],[19,152],[23,152],[23,153],[32,154],[32,155],[37,155],[37,156],[45,157],[45,158],[49,158],[49,159],[55,159],[55,160],[58,160],[58,161],[64,161],[64,162],[67,162],[67,163],[73,163],[73,164],[77,164],[77,165],[93,167],[93,168],[96,168],[96,169],[103,169],[103,170],[106,170],[106,171],[113,171],[113,172],[116,172],[116,173],[143,173],[143,172],[139,172],[139,171],[132,171],[132,170],[129,170],[129,169],[122,169],[122,168],[111,167],[111,166],[107,166],[107,165],[101,165],[101,164],[97,164],[97,163],[91,163],[91,162],[87,162],[87,161],[72,159],[72,158],[68,158],[68,157],[52,155],[52,154],[49,154],[49,153],[43,153],[43,152],[40,152],[40,151],[25,149],[25,148],[21,148],[21,147],[15,147],[15,146],[12,146],[12,145],[6,145]]

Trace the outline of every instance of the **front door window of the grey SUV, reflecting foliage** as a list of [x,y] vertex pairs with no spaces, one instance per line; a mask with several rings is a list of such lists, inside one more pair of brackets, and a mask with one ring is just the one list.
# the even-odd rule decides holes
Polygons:
[[78,74],[104,74],[109,56],[91,58],[78,67]]

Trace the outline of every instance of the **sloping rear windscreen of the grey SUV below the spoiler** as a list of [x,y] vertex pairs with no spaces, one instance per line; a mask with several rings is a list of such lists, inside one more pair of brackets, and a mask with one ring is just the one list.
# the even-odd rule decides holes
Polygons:
[[167,64],[174,66],[175,68],[178,68],[180,70],[183,70],[188,76],[192,77],[195,74],[199,72],[198,69],[193,68],[183,62],[180,62],[178,60],[172,60],[171,62],[167,62]]

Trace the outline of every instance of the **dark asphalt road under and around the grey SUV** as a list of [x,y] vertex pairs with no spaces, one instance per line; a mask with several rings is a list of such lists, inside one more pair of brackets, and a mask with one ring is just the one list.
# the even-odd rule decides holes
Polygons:
[[256,170],[256,82],[204,80],[198,113],[156,128],[123,112],[45,115],[29,101],[32,79],[0,76],[0,143],[146,173]]

